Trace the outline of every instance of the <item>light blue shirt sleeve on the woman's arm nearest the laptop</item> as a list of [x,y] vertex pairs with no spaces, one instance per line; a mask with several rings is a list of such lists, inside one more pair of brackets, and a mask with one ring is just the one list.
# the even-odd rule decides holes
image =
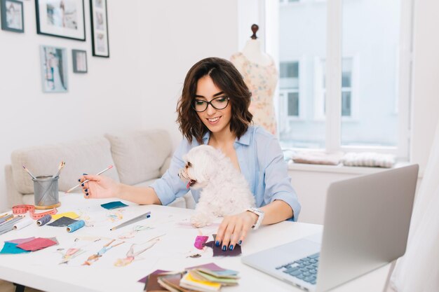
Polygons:
[[274,200],[282,200],[289,204],[293,216],[288,220],[297,221],[301,206],[297,194],[292,188],[291,178],[288,176],[288,164],[283,160],[281,146],[273,136],[269,137],[264,146],[265,149],[261,153],[264,156],[262,159],[265,183],[264,202],[269,204]]

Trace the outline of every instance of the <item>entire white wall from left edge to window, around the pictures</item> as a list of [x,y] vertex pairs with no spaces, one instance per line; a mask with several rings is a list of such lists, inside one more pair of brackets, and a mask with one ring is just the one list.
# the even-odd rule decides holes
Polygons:
[[[177,144],[175,107],[187,70],[238,49],[234,0],[108,1],[110,57],[92,57],[84,3],[86,42],[36,34],[34,1],[23,1],[25,34],[0,31],[0,211],[4,165],[16,148],[140,127],[170,130]],[[68,49],[69,92],[42,92],[40,45]],[[88,74],[73,74],[72,48],[87,50]]]

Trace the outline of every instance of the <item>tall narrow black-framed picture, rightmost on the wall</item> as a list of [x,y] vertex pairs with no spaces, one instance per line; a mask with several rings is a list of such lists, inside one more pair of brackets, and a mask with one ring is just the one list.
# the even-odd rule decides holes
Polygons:
[[107,0],[90,0],[93,56],[109,57]]

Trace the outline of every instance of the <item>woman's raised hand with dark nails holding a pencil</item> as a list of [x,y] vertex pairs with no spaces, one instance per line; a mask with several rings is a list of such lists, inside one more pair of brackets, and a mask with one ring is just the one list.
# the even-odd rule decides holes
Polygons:
[[[82,183],[86,179],[90,181]],[[81,187],[86,199],[102,199],[106,197],[117,197],[119,193],[119,183],[107,176],[87,175],[81,176]]]

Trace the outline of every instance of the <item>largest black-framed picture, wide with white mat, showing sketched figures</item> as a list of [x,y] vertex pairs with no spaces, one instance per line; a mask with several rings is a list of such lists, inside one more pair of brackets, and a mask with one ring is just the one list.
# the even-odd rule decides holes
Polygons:
[[35,0],[36,32],[86,41],[83,0]]

